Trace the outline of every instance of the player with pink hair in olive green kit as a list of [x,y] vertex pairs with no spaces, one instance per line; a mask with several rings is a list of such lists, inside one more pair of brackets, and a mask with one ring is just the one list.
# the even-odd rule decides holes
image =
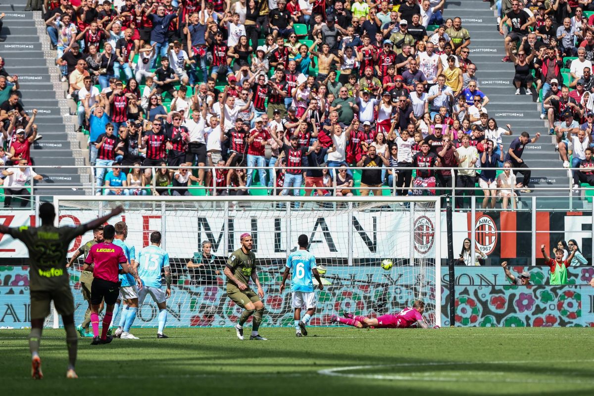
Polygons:
[[[266,338],[258,334],[258,328],[264,315],[264,304],[260,300],[264,298],[264,291],[260,286],[260,280],[258,280],[258,274],[256,273],[256,255],[252,252],[252,237],[248,233],[243,233],[240,240],[241,249],[233,252],[225,266],[227,295],[234,303],[244,309],[244,312],[239,316],[239,323],[235,325],[235,331],[237,332],[237,338],[243,340],[244,323],[249,316],[254,315],[252,334],[249,339],[266,341]],[[248,286],[249,278],[252,278],[258,287],[258,294]]]

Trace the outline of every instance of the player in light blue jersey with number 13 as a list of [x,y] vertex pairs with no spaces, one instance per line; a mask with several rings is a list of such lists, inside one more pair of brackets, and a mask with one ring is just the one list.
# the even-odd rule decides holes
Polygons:
[[[153,301],[159,307],[159,330],[157,338],[169,338],[163,334],[167,322],[166,299],[171,296],[171,272],[169,271],[169,255],[161,249],[161,233],[154,231],[150,235],[150,246],[142,249],[138,254],[138,275],[143,281],[143,290],[138,293],[138,300],[142,304],[144,297],[150,293]],[[165,283],[167,290],[161,289],[161,270],[165,268]]]

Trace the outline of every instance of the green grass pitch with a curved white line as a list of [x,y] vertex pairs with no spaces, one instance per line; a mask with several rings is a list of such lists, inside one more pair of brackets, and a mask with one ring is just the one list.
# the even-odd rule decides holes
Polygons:
[[589,328],[309,330],[308,337],[296,338],[292,328],[263,328],[261,334],[270,340],[260,342],[239,341],[232,328],[168,329],[171,338],[166,340],[157,340],[154,329],[134,329],[140,340],[93,347],[86,338],[79,343],[77,381],[63,378],[67,361],[63,331],[44,331],[40,356],[45,378],[32,381],[27,330],[1,330],[2,394],[594,392]]

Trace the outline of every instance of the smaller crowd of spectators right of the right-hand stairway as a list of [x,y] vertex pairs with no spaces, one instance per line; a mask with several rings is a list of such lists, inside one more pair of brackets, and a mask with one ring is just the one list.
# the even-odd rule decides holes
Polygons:
[[[594,7],[587,1],[503,1],[498,28],[505,34],[504,62],[514,62],[516,94],[535,85],[541,119],[554,135],[563,166],[574,168],[574,192],[590,186],[594,97]],[[587,154],[589,153],[589,154]]]

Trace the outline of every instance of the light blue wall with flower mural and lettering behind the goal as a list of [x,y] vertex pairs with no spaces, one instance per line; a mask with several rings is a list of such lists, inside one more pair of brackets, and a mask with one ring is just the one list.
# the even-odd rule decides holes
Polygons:
[[[531,286],[513,286],[501,267],[456,267],[457,326],[593,326],[594,287],[587,284],[594,275],[592,267],[568,268],[567,286],[548,286],[548,267],[513,267],[512,273],[529,271]],[[393,267],[391,271],[365,267],[329,267],[329,285],[319,293],[318,312],[312,324],[325,325],[333,313],[353,311],[365,314],[397,312],[419,292],[412,284],[414,267]],[[279,294],[280,270],[261,268],[261,283],[266,294],[265,324],[290,326],[293,323],[290,294]],[[75,299],[75,320],[80,322],[87,305],[80,293],[78,273],[71,274]],[[441,319],[448,322],[449,292],[447,268],[441,273]],[[186,274],[178,273],[168,300],[169,324],[179,327],[230,326],[241,313],[225,293],[225,280],[210,286],[193,286]],[[434,289],[421,286],[424,296]],[[158,309],[150,299],[138,313],[138,325],[157,325]],[[0,327],[29,326],[29,268],[0,267]]]

